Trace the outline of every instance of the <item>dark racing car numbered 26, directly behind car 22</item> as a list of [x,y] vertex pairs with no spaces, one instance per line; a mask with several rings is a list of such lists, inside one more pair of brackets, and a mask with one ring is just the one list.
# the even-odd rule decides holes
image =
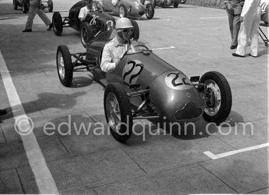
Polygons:
[[[99,33],[115,28],[116,19],[106,13],[98,1],[92,1],[90,13],[83,22],[80,22],[78,15],[80,9],[86,6],[85,0],[80,0],[69,10],[68,17],[62,17],[59,12],[54,12],[52,25],[54,34],[61,36],[63,27],[72,27],[80,32],[81,43],[86,47],[87,43]],[[139,27],[137,22],[131,20],[134,26],[133,39],[139,38]]]

